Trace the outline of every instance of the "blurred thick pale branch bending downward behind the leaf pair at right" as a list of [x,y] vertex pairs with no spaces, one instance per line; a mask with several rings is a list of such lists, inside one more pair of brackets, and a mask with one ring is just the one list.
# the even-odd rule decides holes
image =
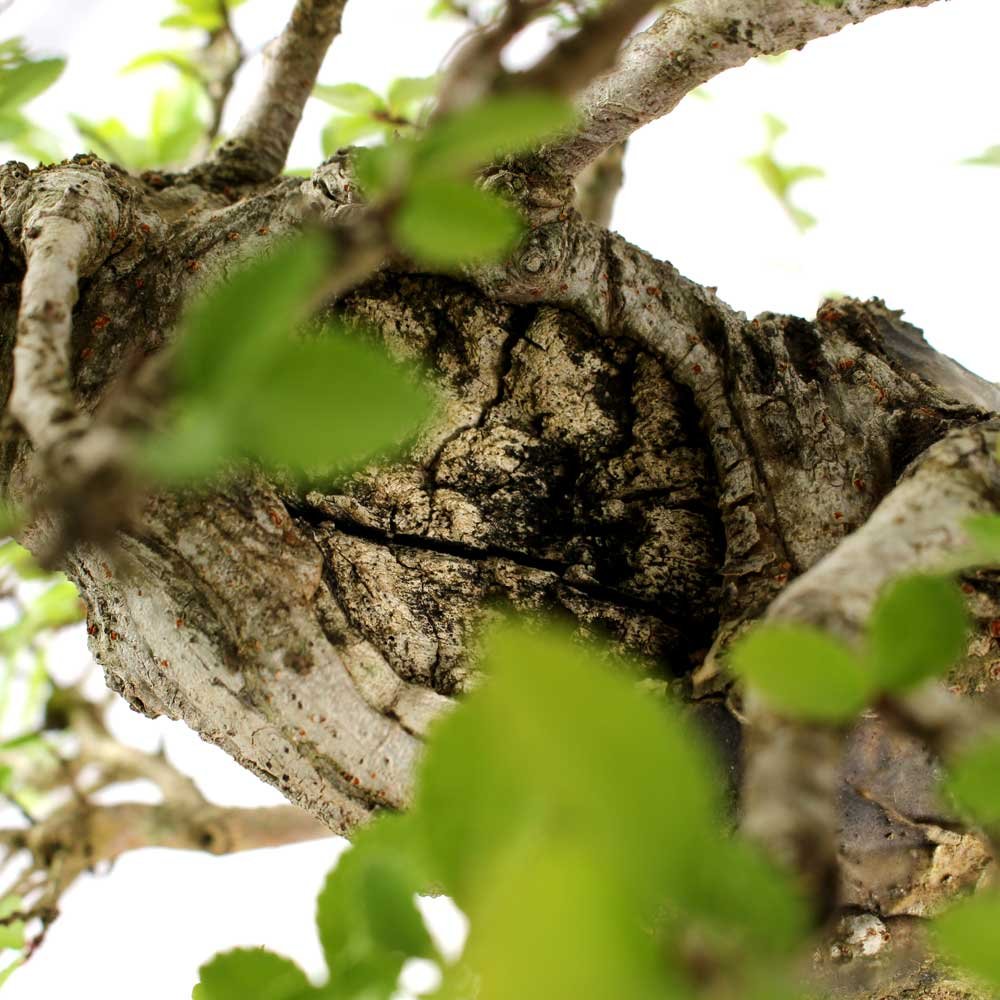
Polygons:
[[[768,620],[804,622],[856,642],[889,580],[954,563],[967,548],[965,521],[1000,509],[998,440],[1000,421],[992,420],[930,447],[862,527],[771,604]],[[888,706],[892,721],[945,753],[968,738],[971,721],[985,718],[981,708],[940,692],[918,691]],[[829,911],[836,902],[844,731],[779,718],[752,692],[746,715],[744,829],[814,891],[825,889],[818,898]]]

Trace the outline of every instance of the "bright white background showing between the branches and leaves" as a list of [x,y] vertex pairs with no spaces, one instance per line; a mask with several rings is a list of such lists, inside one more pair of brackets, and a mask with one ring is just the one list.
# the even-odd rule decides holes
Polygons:
[[[352,0],[322,82],[382,90],[394,77],[433,72],[456,27],[424,20],[429,5]],[[291,0],[249,0],[239,8],[247,48],[276,33],[290,7]],[[0,13],[0,40],[20,34],[38,52],[69,57],[60,81],[29,109],[63,137],[67,152],[83,148],[67,111],[115,115],[144,129],[153,92],[172,76],[117,70],[141,52],[185,44],[158,27],[171,9],[169,0],[14,0]],[[879,295],[905,309],[936,347],[1000,381],[1000,169],[960,164],[1000,144],[998,37],[996,0],[952,0],[880,16],[778,64],[732,71],[708,84],[709,99],[688,99],[632,140],[613,226],[751,315],[812,316],[834,291]],[[520,55],[539,41],[528,40]],[[229,124],[256,75],[255,62],[239,81]],[[319,162],[328,111],[312,102],[291,166]],[[796,190],[819,219],[804,236],[743,163],[763,147],[765,112],[789,125],[777,147],[782,162],[827,172]],[[61,649],[64,669],[77,669],[86,658],[82,629]],[[150,722],[124,704],[114,721],[123,738],[146,747],[165,740],[171,758],[216,801],[282,801],[181,724]],[[329,841],[223,859],[128,855],[109,876],[82,879],[69,893],[42,950],[4,988],[5,1000],[68,988],[103,1000],[182,1000],[198,965],[237,945],[266,944],[319,973],[313,900],[342,849]],[[442,934],[460,936],[445,903],[431,905]]]

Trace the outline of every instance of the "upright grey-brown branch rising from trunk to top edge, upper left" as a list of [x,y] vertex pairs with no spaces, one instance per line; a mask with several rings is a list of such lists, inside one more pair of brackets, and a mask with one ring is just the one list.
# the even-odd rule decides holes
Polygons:
[[297,0],[284,31],[265,52],[264,82],[210,169],[234,183],[277,177],[347,0]]

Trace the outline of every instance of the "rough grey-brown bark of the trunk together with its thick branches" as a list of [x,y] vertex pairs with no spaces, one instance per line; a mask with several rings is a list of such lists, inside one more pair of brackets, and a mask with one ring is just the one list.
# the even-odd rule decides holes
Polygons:
[[[330,304],[438,387],[401,457],[305,491],[247,474],[149,497],[112,550],[72,549],[110,686],[347,832],[406,806],[428,726],[476,683],[492,608],[566,616],[689,700],[742,785],[747,832],[843,915],[841,986],[972,996],[924,962],[914,928],[992,865],[937,801],[932,750],[985,715],[968,699],[1000,694],[996,576],[964,581],[976,629],[953,695],[886,704],[848,734],[741,704],[722,653],[765,614],[854,641],[889,576],[952,556],[964,518],[1000,508],[1000,389],[877,300],[748,320],[571,207],[571,174],[714,73],[925,2],[741,0],[734,19],[725,0],[687,0],[634,39],[582,95],[577,135],[484,175],[530,220],[510,261],[450,277],[396,261]],[[313,38],[314,62],[342,6],[296,7],[288,30]],[[265,111],[285,124],[251,119],[232,162],[142,181],[89,157],[2,168],[0,396],[15,342],[18,379],[31,373],[0,452],[12,498],[51,492],[60,448],[105,467],[126,402],[168,388],[150,372],[199,289],[308,222],[363,220],[346,158],[267,179],[296,80],[276,73],[285,103]],[[90,181],[106,204],[82,212],[66,192]],[[94,222],[110,218],[113,233]],[[54,530],[38,518],[27,541]],[[894,945],[875,960],[872,935]]]

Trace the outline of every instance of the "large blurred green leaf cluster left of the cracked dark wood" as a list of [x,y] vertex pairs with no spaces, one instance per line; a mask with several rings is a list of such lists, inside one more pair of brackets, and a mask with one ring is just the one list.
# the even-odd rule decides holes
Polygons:
[[198,302],[179,342],[179,413],[147,443],[147,469],[196,479],[222,463],[329,473],[401,441],[429,410],[413,374],[334,325],[297,323],[329,267],[319,237],[289,243]]

